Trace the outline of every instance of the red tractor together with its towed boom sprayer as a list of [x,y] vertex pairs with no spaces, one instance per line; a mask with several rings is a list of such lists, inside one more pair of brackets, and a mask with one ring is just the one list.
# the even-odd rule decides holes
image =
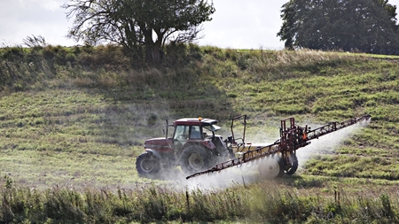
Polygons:
[[[136,168],[141,177],[156,177],[162,170],[181,166],[186,179],[202,174],[266,158],[259,164],[262,177],[273,179],[283,174],[292,175],[298,168],[296,151],[323,135],[328,135],[360,121],[371,120],[370,115],[352,118],[311,129],[295,124],[294,118],[281,120],[280,138],[274,143],[246,143],[246,115],[231,120],[231,135],[223,140],[215,131],[217,120],[191,118],[180,119],[163,128],[165,137],[145,141],[145,152],[137,157]],[[234,128],[243,127],[241,137]],[[168,128],[173,127],[171,136]]]

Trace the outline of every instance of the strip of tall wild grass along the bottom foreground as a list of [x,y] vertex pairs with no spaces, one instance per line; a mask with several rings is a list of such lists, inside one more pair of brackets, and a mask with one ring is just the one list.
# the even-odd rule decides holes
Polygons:
[[[312,194],[279,184],[251,190],[169,189],[2,189],[4,223],[148,223],[153,221],[251,221],[267,223],[396,223],[397,197],[365,196],[333,189]],[[281,188],[282,187],[282,188]],[[349,189],[350,190],[350,189]],[[367,189],[364,189],[367,190]]]

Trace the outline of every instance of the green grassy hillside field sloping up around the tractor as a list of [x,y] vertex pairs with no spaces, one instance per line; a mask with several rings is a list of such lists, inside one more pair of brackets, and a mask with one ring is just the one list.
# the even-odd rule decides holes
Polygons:
[[[318,140],[312,143],[318,148],[311,157],[300,160],[301,168],[293,177],[272,185],[254,184],[248,191],[250,195],[239,186],[236,190],[239,197],[245,197],[243,204],[223,209],[235,211],[247,203],[256,208],[248,219],[271,222],[317,222],[332,212],[335,218],[340,216],[336,219],[340,222],[362,222],[356,215],[363,214],[365,220],[389,223],[399,212],[395,193],[399,183],[399,57],[190,45],[168,49],[161,66],[137,65],[116,47],[12,47],[1,49],[0,59],[0,170],[5,189],[14,189],[10,197],[32,194],[24,187],[90,189],[94,191],[85,191],[86,196],[98,197],[102,193],[96,189],[135,189],[139,182],[164,184],[138,178],[135,161],[144,150],[146,138],[162,136],[160,127],[166,119],[215,118],[220,120],[224,128],[221,134],[226,136],[231,117],[246,113],[246,139],[273,142],[278,137],[279,120],[287,117],[295,117],[300,125],[317,127],[371,114],[372,122],[367,127],[346,132],[343,137],[331,136],[328,141],[320,139],[321,144]],[[15,189],[18,187],[22,189]],[[276,191],[265,196],[265,201],[254,200],[270,188]],[[53,194],[75,193],[51,190]],[[215,200],[232,200],[223,197],[228,192],[212,194],[217,195]],[[345,194],[345,203],[337,198],[337,192]],[[192,192],[193,196],[202,193]],[[186,198],[180,197],[174,197],[174,209],[180,211],[174,214],[176,217],[160,215],[161,219],[206,217],[193,217],[190,215],[195,212],[179,208],[187,206]],[[90,202],[84,198],[84,203]],[[165,200],[160,199],[162,204],[173,204]],[[198,206],[216,203],[209,200],[203,199],[204,205]],[[74,203],[78,202],[83,203],[78,199]],[[267,207],[270,202],[277,204]],[[113,207],[113,203],[105,206]],[[284,207],[290,203],[303,206]],[[340,203],[347,212],[336,207]],[[316,208],[317,204],[320,207]],[[375,211],[362,213],[364,204],[370,204]],[[139,210],[134,205],[129,209]],[[298,213],[293,212],[295,209]],[[215,213],[209,221],[245,220],[246,212]],[[281,214],[286,216],[278,218]],[[48,213],[47,217],[65,219]],[[136,216],[121,217],[140,220]]]

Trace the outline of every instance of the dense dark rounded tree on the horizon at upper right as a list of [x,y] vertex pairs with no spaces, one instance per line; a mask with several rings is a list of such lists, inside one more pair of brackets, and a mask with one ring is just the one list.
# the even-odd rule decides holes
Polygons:
[[387,0],[291,0],[278,32],[287,49],[399,54],[396,6]]

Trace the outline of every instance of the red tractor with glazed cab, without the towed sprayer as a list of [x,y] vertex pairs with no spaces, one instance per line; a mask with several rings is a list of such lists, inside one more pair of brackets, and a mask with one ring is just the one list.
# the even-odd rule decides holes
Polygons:
[[[215,131],[217,120],[191,118],[176,120],[164,127],[165,137],[145,141],[145,152],[137,157],[136,168],[141,177],[154,177],[161,170],[181,166],[184,174],[194,174],[234,158],[229,137],[223,141]],[[168,127],[174,127],[168,135]]]

